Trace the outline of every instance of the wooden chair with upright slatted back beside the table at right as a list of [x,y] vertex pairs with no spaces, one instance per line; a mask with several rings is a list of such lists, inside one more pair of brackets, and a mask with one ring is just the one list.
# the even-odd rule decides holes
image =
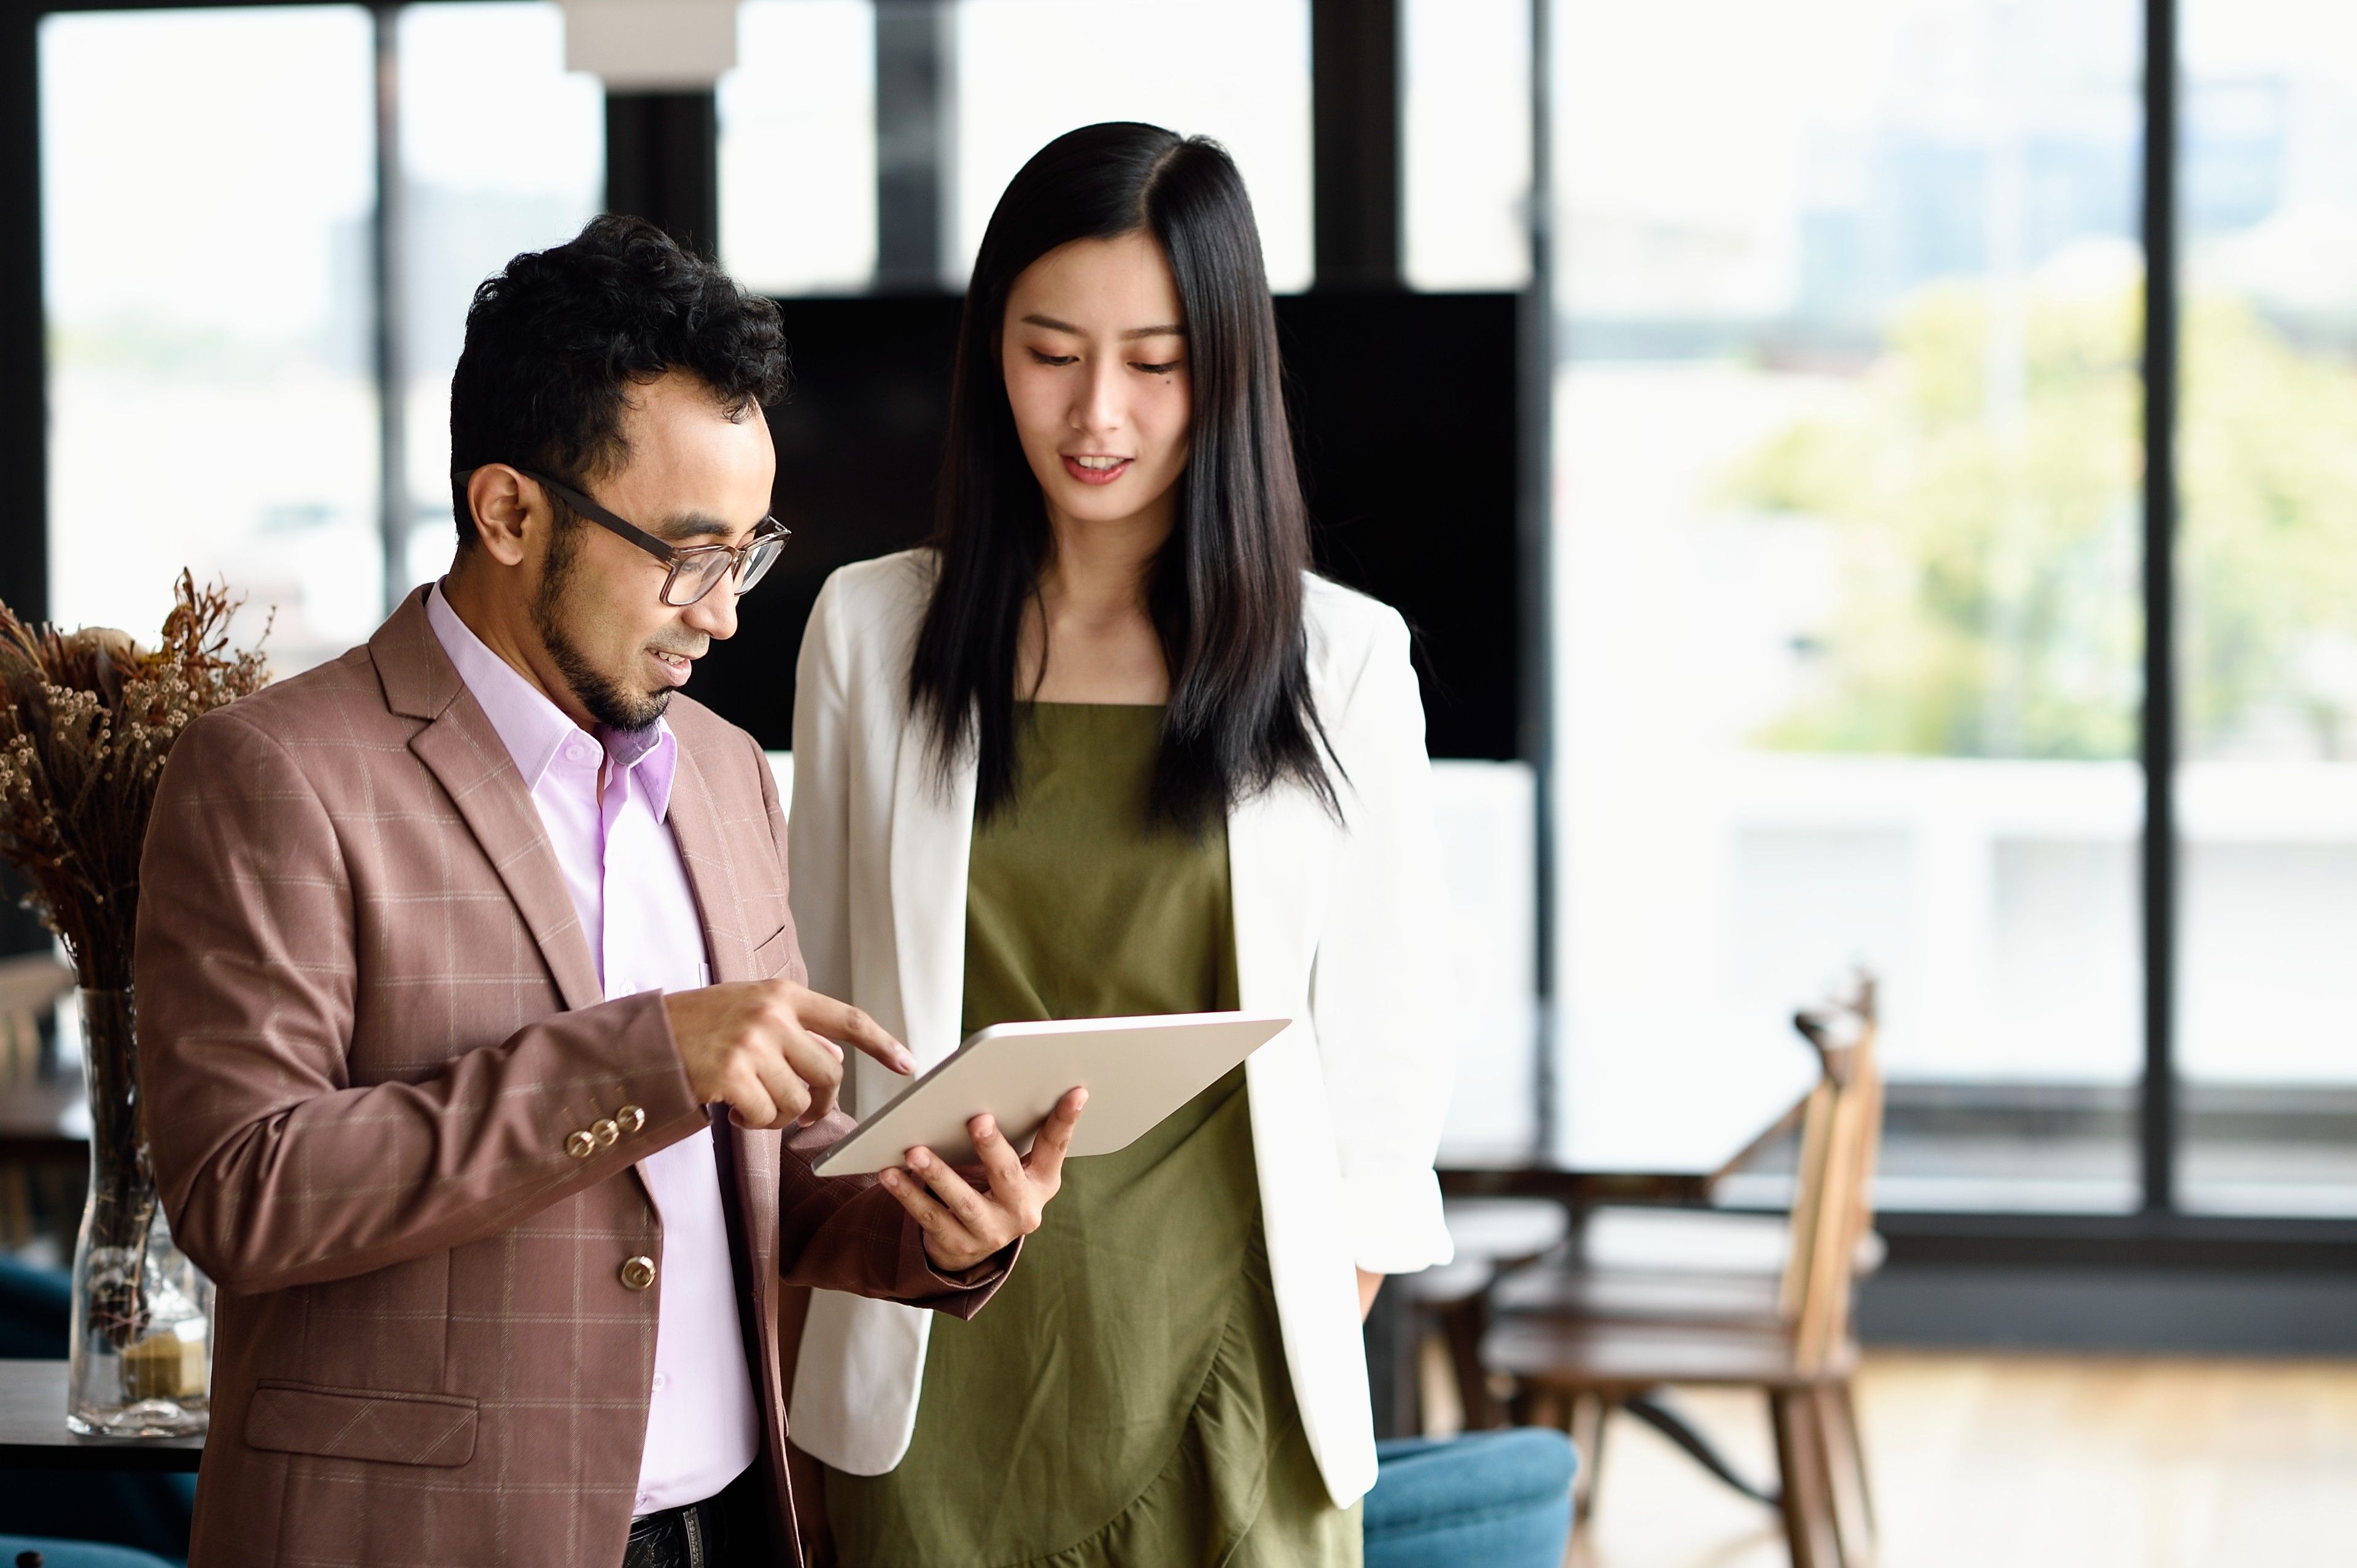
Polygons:
[[[1615,1410],[1664,1429],[1723,1481],[1780,1509],[1794,1568],[1864,1568],[1874,1507],[1850,1375],[1850,1287],[1871,1233],[1869,1184],[1881,1144],[1874,981],[1838,1007],[1794,1019],[1822,1066],[1801,1125],[1784,1269],[1772,1280],[1690,1273],[1567,1273],[1556,1299],[1499,1290],[1480,1363],[1516,1384],[1516,1415],[1563,1424],[1586,1455],[1579,1516]],[[1775,1431],[1775,1493],[1744,1483],[1697,1434],[1655,1403],[1678,1384],[1761,1389]]]

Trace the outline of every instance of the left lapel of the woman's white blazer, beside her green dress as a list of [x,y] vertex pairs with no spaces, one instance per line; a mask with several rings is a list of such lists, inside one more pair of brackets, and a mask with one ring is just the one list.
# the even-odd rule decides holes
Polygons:
[[893,759],[891,920],[900,1023],[924,1070],[957,1049],[966,1004],[966,865],[973,856],[971,752],[943,776],[929,736],[903,722]]

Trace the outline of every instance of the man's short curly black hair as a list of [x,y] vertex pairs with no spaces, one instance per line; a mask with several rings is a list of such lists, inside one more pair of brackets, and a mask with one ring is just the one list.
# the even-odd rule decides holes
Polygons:
[[[580,486],[629,457],[632,384],[686,370],[731,415],[785,396],[778,307],[639,217],[594,217],[474,290],[450,377],[450,469],[514,462]],[[450,483],[460,547],[467,486]]]

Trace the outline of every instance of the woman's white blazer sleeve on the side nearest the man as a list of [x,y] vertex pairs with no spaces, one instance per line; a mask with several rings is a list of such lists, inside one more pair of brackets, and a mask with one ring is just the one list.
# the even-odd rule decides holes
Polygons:
[[827,578],[794,665],[794,813],[785,832],[785,865],[811,990],[849,997],[851,710],[837,620],[834,578]]

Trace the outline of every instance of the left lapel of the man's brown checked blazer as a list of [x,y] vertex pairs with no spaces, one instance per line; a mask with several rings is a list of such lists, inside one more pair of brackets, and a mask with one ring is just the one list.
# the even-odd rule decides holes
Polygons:
[[573,894],[566,891],[563,868],[556,865],[556,849],[540,825],[540,809],[533,806],[533,795],[523,788],[523,773],[507,755],[500,731],[467,693],[467,684],[434,637],[424,592],[410,594],[368,639],[384,700],[394,712],[431,719],[410,736],[410,752],[441,780],[467,830],[500,872],[566,1007],[596,1007],[603,1000],[596,960],[589,955],[589,936],[573,908]]

